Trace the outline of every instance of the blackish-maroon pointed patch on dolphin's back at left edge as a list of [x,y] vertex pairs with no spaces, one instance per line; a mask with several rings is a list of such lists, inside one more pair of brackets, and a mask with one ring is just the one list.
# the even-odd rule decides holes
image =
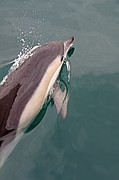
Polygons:
[[6,96],[0,99],[0,138],[14,130],[12,128],[10,130],[6,129],[6,125],[20,86],[20,84],[17,84]]

